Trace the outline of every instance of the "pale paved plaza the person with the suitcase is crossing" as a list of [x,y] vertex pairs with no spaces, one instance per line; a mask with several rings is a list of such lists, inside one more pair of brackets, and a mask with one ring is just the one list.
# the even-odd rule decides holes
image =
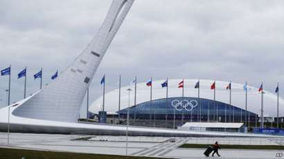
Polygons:
[[[74,140],[86,137],[91,140]],[[123,142],[123,138],[125,136],[10,133],[10,144],[7,145],[7,133],[0,133],[0,144],[1,147],[19,149],[125,155],[126,142]],[[216,140],[220,142],[221,147],[222,144],[284,144],[284,138],[175,138],[175,142],[170,142],[170,139],[172,138],[130,137],[127,153],[131,156],[206,158],[203,155],[205,149],[178,147],[184,143],[213,144]],[[276,150],[220,150],[221,158],[276,158],[276,153],[281,152]]]

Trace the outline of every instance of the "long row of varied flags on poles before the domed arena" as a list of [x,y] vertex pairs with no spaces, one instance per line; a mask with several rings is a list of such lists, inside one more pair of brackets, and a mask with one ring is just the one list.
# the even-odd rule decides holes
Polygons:
[[[134,106],[136,106],[136,84],[137,84],[137,77],[134,78],[133,82],[134,84]],[[100,84],[103,84],[103,111],[105,110],[105,75],[103,76],[103,79],[101,80]],[[226,86],[226,89],[229,90],[229,106],[231,107],[231,81],[229,84]],[[152,77],[146,82],[146,86],[150,86],[150,102],[152,102]],[[168,78],[166,79],[165,82],[161,84],[161,87],[166,87],[166,109],[168,109]],[[179,82],[178,88],[182,88],[182,97],[184,97],[184,79]],[[200,102],[200,83],[199,80],[196,82],[194,88],[197,88],[197,97],[198,97],[198,102]],[[243,89],[245,91],[245,124],[249,124],[247,122],[247,91],[248,91],[248,85],[247,82],[245,82]],[[211,90],[213,90],[213,100],[214,104],[216,103],[216,82],[214,81],[213,84],[211,84]],[[260,115],[260,127],[263,128],[263,122],[264,122],[264,116],[263,116],[263,82],[261,83],[260,87],[258,88],[258,93],[261,93],[261,115]],[[278,118],[279,118],[279,85],[277,84],[275,93],[277,93],[277,128],[278,128]],[[119,75],[119,97],[118,97],[118,111],[121,110],[121,75]],[[216,107],[216,120],[219,120],[218,116],[218,105]],[[175,112],[174,112],[175,113]],[[191,112],[192,113],[192,112]],[[199,122],[201,122],[201,115],[202,115],[202,110],[200,109],[199,111]],[[175,116],[175,115],[174,115]],[[208,120],[210,117],[209,109],[208,109]],[[134,118],[135,118],[135,113],[134,113]],[[235,109],[233,107],[233,118],[231,120],[231,115],[229,117],[229,122],[235,122]],[[242,118],[242,117],[241,117]],[[168,114],[166,114],[166,121],[168,120]],[[174,117],[174,127],[175,127],[175,117]],[[184,120],[184,114],[182,113],[181,115],[181,120]],[[227,106],[225,106],[225,122],[227,122]],[[190,121],[192,122],[192,114],[191,114],[191,119]],[[150,122],[152,122],[152,106],[150,106]],[[209,121],[208,121],[209,122]]]

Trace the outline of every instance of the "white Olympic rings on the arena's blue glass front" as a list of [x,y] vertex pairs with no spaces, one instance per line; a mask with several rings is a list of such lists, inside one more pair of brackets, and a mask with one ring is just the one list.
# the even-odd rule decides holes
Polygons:
[[198,103],[196,100],[172,100],[172,106],[175,107],[177,111],[182,111],[182,109],[186,109],[186,111],[192,111],[197,105]]

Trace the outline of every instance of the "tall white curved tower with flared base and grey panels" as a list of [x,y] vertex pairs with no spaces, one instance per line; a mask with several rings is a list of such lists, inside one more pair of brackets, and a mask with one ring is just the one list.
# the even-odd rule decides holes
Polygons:
[[103,25],[87,48],[51,84],[18,106],[12,115],[77,122],[80,106],[94,73],[134,0],[114,0]]

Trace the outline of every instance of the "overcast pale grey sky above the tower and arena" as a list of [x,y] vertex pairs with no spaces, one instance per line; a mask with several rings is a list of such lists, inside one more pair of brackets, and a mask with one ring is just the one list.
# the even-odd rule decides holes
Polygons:
[[[110,0],[1,0],[0,68],[12,65],[11,102],[39,89],[71,64],[103,23]],[[284,1],[136,0],[109,46],[90,86],[90,102],[106,91],[153,79],[249,82],[284,95]],[[8,77],[0,77],[0,106]],[[84,105],[82,112],[84,112]]]

